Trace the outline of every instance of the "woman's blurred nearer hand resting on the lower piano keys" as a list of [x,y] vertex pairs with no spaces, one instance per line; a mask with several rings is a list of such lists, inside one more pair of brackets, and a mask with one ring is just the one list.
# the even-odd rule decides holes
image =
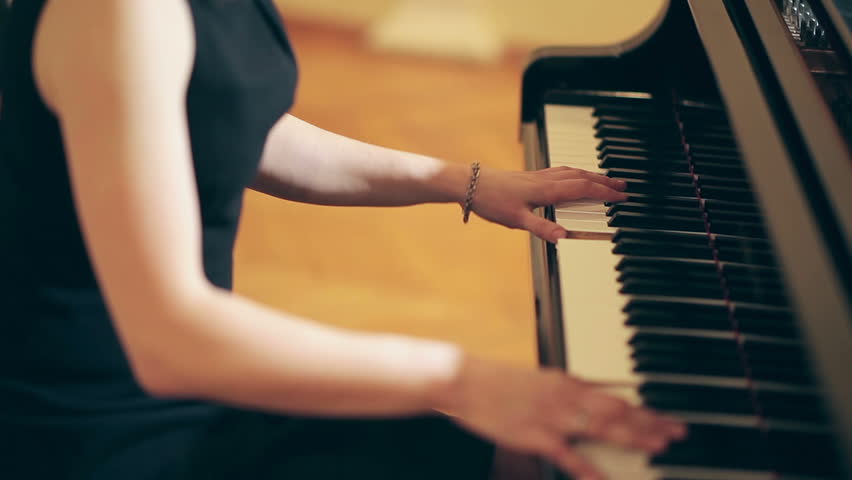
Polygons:
[[467,358],[449,392],[443,411],[465,428],[500,446],[541,455],[583,480],[603,475],[571,448],[570,438],[656,453],[686,434],[681,422],[556,369]]

